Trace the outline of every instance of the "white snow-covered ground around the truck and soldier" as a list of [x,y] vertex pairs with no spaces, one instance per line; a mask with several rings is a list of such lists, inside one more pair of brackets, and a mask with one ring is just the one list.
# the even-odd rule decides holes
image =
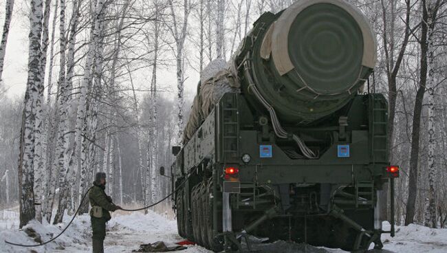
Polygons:
[[[14,208],[16,209],[16,208]],[[33,244],[33,239],[25,232],[17,229],[19,214],[16,210],[0,210],[0,252],[91,252],[91,229],[88,215],[77,217],[65,234],[39,248],[18,248],[8,245],[4,240],[15,243]],[[182,239],[177,234],[177,224],[170,219],[170,214],[160,215],[150,211],[149,214],[134,212],[131,214],[116,213],[107,223],[107,237],[105,240],[105,252],[131,252],[138,250],[143,243],[164,241],[168,245]],[[42,241],[47,241],[51,236],[58,234],[71,217],[65,216],[64,223],[48,225],[32,222],[25,227],[32,228],[41,236]],[[389,223],[384,223],[384,230],[389,229]],[[28,232],[31,230],[28,229]],[[447,252],[447,229],[430,229],[421,225],[408,225],[397,227],[394,238],[385,234],[382,236],[384,250],[370,252]],[[307,249],[306,249],[307,248]],[[34,250],[34,251],[31,251]],[[315,248],[310,245],[277,241],[254,245],[256,252],[308,252],[308,253],[341,253],[342,250]],[[181,252],[210,252],[199,246],[188,246]]]

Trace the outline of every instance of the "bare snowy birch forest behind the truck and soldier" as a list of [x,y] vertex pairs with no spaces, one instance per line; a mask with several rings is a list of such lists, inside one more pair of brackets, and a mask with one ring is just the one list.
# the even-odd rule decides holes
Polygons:
[[[228,60],[257,17],[293,1],[3,2],[0,206],[20,204],[22,226],[60,222],[96,171],[108,174],[116,203],[166,196],[170,181],[158,168],[169,172],[171,146],[182,140],[193,96],[184,94],[185,80],[216,58]],[[445,228],[447,1],[349,2],[367,16],[378,42],[371,82],[389,99],[390,155],[401,171],[396,222]],[[22,98],[8,96],[1,82],[5,55],[14,54],[12,19],[30,28]]]

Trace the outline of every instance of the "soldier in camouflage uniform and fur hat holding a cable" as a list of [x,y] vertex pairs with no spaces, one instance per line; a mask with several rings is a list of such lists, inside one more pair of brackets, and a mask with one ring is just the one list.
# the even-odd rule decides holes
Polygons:
[[120,206],[116,206],[112,202],[111,197],[105,194],[105,178],[105,173],[96,173],[94,186],[89,192],[91,229],[93,230],[91,239],[94,253],[104,253],[105,223],[111,219],[109,211],[121,209]]

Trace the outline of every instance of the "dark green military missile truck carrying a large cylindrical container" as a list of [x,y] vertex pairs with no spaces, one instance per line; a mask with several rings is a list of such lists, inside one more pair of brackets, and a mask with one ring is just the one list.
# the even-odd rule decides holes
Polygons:
[[179,234],[215,252],[240,250],[248,234],[382,248],[394,226],[382,230],[380,191],[389,185],[393,219],[399,168],[373,85],[376,51],[367,19],[345,1],[261,15],[228,67],[201,80],[173,147]]

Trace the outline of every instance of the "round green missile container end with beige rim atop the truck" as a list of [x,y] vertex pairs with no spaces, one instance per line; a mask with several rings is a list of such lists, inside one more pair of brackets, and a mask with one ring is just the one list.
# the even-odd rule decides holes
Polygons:
[[[375,67],[376,47],[369,22],[353,5],[305,0],[263,14],[241,44],[235,66],[244,94],[254,94],[254,85],[281,122],[306,125],[335,113],[362,90]],[[258,97],[249,100],[263,108]]]

